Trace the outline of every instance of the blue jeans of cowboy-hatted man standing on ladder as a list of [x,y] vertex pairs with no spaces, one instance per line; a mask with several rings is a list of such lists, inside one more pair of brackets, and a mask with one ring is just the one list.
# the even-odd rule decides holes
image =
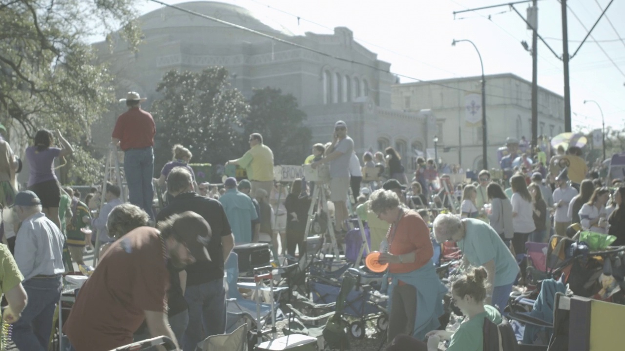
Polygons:
[[151,219],[152,200],[154,199],[154,152],[152,147],[129,149],[124,152],[124,172],[128,183],[130,203],[146,211]]

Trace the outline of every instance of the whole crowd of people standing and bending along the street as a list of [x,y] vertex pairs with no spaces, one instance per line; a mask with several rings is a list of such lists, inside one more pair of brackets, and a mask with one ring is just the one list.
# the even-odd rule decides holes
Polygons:
[[[279,186],[273,153],[253,133],[249,151],[227,162],[244,168],[248,179],[197,184],[192,154],[181,145],[154,177],[156,127],[141,109],[144,100],[136,92],[121,100],[128,111],[112,133],[112,145],[124,152],[129,203],[111,182],[93,187],[84,200],[78,190],[61,187],[54,159],[68,157],[73,147],[59,131],[37,132],[25,153],[27,190],[17,192],[21,161],[0,140],[1,234],[8,245],[0,245],[8,303],[3,318],[14,325],[12,339],[21,350],[47,350],[62,276],[74,263],[84,265],[84,253],[95,247],[101,248],[94,252],[99,264],[78,291],[63,328],[73,350],[110,350],[159,335],[181,350],[194,350],[206,337],[223,334],[224,263],[231,250],[269,242],[276,262],[305,252],[315,187],[329,195],[326,215],[337,237],[351,229],[352,215],[359,216],[369,229],[371,250],[389,264],[388,350],[434,350],[440,340],[451,340],[448,350],[481,350],[482,340],[474,335],[481,335],[484,319],[501,322],[513,284],[519,274],[521,284],[524,277],[514,254],[524,253],[527,241],[565,236],[578,222],[615,235],[615,245],[625,244],[625,187],[617,180],[604,184],[589,171],[579,147],[558,148],[552,157],[540,151],[529,161],[526,152],[518,152],[522,142],[509,139],[500,179],[482,170],[476,182],[461,177],[458,184],[439,173],[439,162],[418,157],[409,181],[392,147],[359,157],[346,122],[337,121],[331,141],[315,144],[304,160],[319,174],[327,172],[327,181],[296,179]],[[55,140],[61,147],[54,147]],[[451,174],[459,171],[449,168]],[[164,207],[153,205],[154,186],[166,190]],[[466,316],[454,334],[434,331],[447,288],[431,264],[432,239],[454,243],[467,268],[451,288]]]

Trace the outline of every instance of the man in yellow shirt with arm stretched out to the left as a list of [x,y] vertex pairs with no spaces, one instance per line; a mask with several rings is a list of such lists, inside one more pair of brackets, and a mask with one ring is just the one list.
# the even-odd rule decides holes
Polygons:
[[236,164],[246,170],[247,178],[252,183],[251,194],[256,194],[257,189],[271,193],[274,180],[273,152],[262,144],[261,134],[250,134],[249,150],[241,158],[226,162],[226,166],[228,164]]

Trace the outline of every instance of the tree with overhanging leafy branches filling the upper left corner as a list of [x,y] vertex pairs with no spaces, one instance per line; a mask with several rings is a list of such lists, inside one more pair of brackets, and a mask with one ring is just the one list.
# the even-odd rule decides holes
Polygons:
[[0,0],[0,120],[9,140],[60,129],[78,149],[64,173],[84,180],[101,173],[81,140],[89,139],[89,125],[106,111],[113,91],[87,41],[121,25],[123,39],[136,47],[137,1]]

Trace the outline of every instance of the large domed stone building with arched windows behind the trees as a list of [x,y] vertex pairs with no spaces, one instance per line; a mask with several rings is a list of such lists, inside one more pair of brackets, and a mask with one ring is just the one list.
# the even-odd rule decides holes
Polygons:
[[[144,38],[138,52],[130,51],[117,33],[109,38],[112,46],[109,42],[94,44],[99,60],[111,64],[119,92],[138,91],[148,97],[148,111],[149,103],[158,98],[158,82],[171,69],[200,71],[224,66],[231,73],[232,86],[248,98],[253,88],[267,86],[296,97],[307,114],[313,142],[331,141],[334,122],[342,119],[359,154],[394,146],[404,159],[410,159],[412,149],[425,149],[428,127],[435,133],[435,121],[426,126],[426,116],[391,110],[391,84],[395,82],[389,73],[391,65],[354,41],[346,27],[336,27],[333,34],[296,36],[232,4],[194,1],[176,6],[361,64],[162,7],[139,18]],[[119,106],[114,113],[123,111],[124,106]],[[112,130],[114,117],[107,117],[103,124],[100,127]],[[99,138],[98,145],[109,141],[106,133],[94,137]]]

